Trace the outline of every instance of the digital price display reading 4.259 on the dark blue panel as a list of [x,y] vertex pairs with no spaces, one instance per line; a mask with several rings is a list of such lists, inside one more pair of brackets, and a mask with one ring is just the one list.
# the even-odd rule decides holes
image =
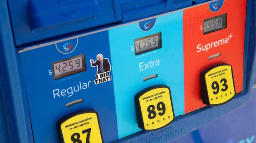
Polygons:
[[53,77],[59,79],[68,75],[86,71],[85,55],[73,56],[52,63]]

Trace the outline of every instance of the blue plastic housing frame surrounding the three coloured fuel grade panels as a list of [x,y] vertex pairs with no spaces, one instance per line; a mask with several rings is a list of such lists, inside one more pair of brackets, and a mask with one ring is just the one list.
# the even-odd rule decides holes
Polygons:
[[[63,20],[56,19],[56,21],[53,23],[45,23],[45,21],[38,20],[40,19],[37,17],[38,15],[29,16],[28,11],[34,10],[38,12],[42,10],[33,4],[33,1],[31,1],[29,4],[33,5],[29,10],[27,0],[8,0],[8,4],[5,0],[0,1],[0,65],[2,66],[2,69],[0,70],[0,91],[2,99],[2,102],[0,102],[0,108],[1,103],[3,103],[2,106],[4,109],[4,114],[2,110],[0,110],[0,119],[5,118],[5,120],[0,121],[0,132],[3,136],[2,139],[4,139],[2,140],[3,142],[8,142],[8,140],[11,143],[34,142],[17,49],[26,47],[25,44],[33,45],[32,42],[40,43],[42,40],[50,41],[52,40],[50,38],[59,38],[57,36],[63,34],[70,34],[74,32],[72,35],[75,35],[79,33],[79,30],[85,30],[93,27],[95,28],[97,26],[109,23],[125,23],[127,21],[131,21],[131,19],[141,19],[142,17],[145,18],[150,15],[157,15],[166,11],[185,8],[194,4],[207,2],[209,0],[197,0],[196,2],[192,0],[158,0],[157,4],[155,4],[152,0],[149,0],[151,3],[147,6],[154,5],[154,7],[149,8],[147,6],[142,6],[141,8],[143,8],[145,11],[145,13],[142,14],[140,13],[143,10],[134,8],[134,6],[137,6],[136,4],[143,2],[143,0],[123,0],[118,2],[118,4],[116,0],[111,2],[107,0],[98,1],[99,8],[102,9],[93,10],[95,15],[97,13],[102,13],[98,14],[101,15],[98,18],[96,17],[92,20],[92,17],[89,20],[86,18],[83,19],[81,15],[77,15],[75,20],[71,18],[64,18]],[[100,3],[102,4],[101,6],[107,8],[108,10],[104,11],[104,8],[100,7]],[[130,8],[126,7],[129,5],[128,3],[131,4]],[[43,5],[44,2],[41,4]],[[94,4],[94,8],[95,7],[97,7],[97,4]],[[130,12],[134,13],[134,17],[131,16],[133,14],[129,14]],[[104,15],[104,13],[109,13],[110,15]],[[40,17],[43,17],[43,15],[40,15]],[[31,22],[33,19],[34,22]],[[54,19],[54,15],[52,16],[52,19]],[[110,25],[105,25],[105,27],[106,26]],[[100,28],[102,27],[97,27],[97,29]],[[95,29],[89,29],[87,31],[89,32],[92,30]],[[70,35],[66,35],[66,37],[67,36]],[[252,92],[252,86],[255,78],[254,0],[248,0],[247,3],[245,37],[243,91],[233,100],[233,102],[229,102],[219,107],[205,107],[199,109],[198,111],[189,113],[186,116],[178,117],[172,124],[166,127],[167,134],[169,134],[169,138],[166,141],[170,141],[176,139],[177,137],[181,137],[182,135],[188,134],[189,132],[200,128],[204,124],[218,119],[222,115],[231,112],[233,109],[242,106],[244,103],[246,103],[246,101],[248,101]],[[5,122],[7,129],[6,126],[4,126]],[[116,142],[138,142],[140,139],[150,137],[152,134],[164,135],[163,133],[165,131],[163,130],[154,132],[139,132]]]

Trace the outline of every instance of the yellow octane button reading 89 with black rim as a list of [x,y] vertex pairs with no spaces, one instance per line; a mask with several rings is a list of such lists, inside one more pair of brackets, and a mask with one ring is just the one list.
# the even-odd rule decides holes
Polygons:
[[146,88],[135,95],[139,128],[150,131],[171,123],[174,118],[171,91],[165,85]]

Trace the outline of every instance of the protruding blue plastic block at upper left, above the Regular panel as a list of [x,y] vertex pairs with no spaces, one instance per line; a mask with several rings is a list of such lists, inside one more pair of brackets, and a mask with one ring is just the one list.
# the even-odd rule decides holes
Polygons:
[[102,13],[98,1],[95,0],[29,0],[28,10],[33,29],[74,19],[94,19]]

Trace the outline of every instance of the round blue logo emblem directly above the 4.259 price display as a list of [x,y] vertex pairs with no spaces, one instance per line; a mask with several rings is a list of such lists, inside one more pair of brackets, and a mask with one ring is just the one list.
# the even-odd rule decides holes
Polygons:
[[55,46],[60,53],[69,54],[75,50],[75,48],[77,47],[77,43],[78,38],[75,38],[72,40],[55,43]]

